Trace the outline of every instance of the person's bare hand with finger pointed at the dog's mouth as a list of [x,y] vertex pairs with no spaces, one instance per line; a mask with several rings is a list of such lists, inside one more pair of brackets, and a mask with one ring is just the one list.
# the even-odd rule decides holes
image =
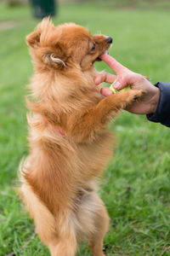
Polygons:
[[[154,113],[159,102],[160,90],[156,86],[150,83],[139,73],[133,73],[127,67],[122,66],[113,57],[107,54],[100,56],[102,61],[105,61],[109,67],[116,72],[116,75],[111,73],[100,73],[94,80],[95,84],[98,85],[102,82],[113,84],[114,89],[122,90],[127,85],[130,85],[132,90],[144,90],[144,96],[141,96],[138,102],[133,102],[129,105],[126,110],[131,113]],[[103,87],[101,90],[103,96],[110,96],[113,92]]]

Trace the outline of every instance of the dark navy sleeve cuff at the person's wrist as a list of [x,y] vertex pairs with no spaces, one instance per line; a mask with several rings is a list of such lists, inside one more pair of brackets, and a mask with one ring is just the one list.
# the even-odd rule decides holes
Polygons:
[[155,113],[146,117],[152,122],[161,123],[170,127],[170,83],[158,82],[155,84],[160,89],[160,98]]

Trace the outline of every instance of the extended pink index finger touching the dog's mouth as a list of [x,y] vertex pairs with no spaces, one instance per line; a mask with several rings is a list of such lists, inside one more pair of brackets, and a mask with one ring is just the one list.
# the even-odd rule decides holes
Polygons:
[[116,74],[122,74],[122,73],[126,73],[128,70],[127,67],[122,66],[121,63],[119,63],[118,61],[116,61],[116,59],[114,59],[113,57],[111,57],[110,55],[107,54],[103,54],[100,55],[99,58],[102,61],[105,61],[105,63],[111,67],[111,69],[113,69],[113,71],[116,72]]

